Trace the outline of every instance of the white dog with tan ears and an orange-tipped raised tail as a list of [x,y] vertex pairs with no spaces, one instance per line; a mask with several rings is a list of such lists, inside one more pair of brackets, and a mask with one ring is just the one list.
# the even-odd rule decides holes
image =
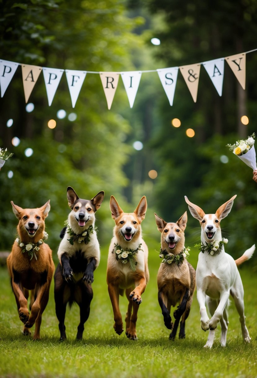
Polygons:
[[[207,343],[204,345],[208,348],[213,346],[215,329],[219,322],[221,325],[220,345],[226,346],[229,294],[233,297],[239,313],[243,340],[245,342],[251,340],[245,324],[244,291],[237,266],[251,258],[255,245],[247,249],[239,259],[234,260],[233,257],[225,253],[224,243],[227,240],[222,238],[220,229],[220,221],[231,211],[235,198],[236,195],[223,203],[215,214],[205,214],[199,206],[190,202],[185,196],[191,214],[199,220],[201,225],[201,246],[196,268],[196,288],[197,301],[200,306],[201,327],[204,331],[210,329]],[[205,301],[207,301],[211,319],[208,318]]]

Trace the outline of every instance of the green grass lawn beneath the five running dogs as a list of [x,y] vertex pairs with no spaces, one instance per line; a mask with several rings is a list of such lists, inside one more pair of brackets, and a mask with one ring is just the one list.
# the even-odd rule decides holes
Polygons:
[[[238,314],[229,307],[228,345],[219,346],[217,328],[213,348],[203,348],[208,332],[200,327],[196,293],[186,322],[186,339],[169,341],[157,300],[156,276],[160,259],[158,243],[145,240],[149,248],[150,282],[143,294],[138,312],[138,341],[128,340],[125,333],[113,330],[113,313],[106,284],[107,248],[102,248],[101,263],[95,271],[94,297],[85,324],[82,341],[76,341],[79,309],[73,305],[66,312],[67,341],[59,342],[55,316],[54,285],[43,313],[41,341],[21,334],[14,295],[6,268],[0,269],[0,377],[256,377],[257,376],[257,275],[252,265],[240,268],[245,288],[246,325],[252,338],[243,344]],[[191,251],[190,262],[197,263],[197,252]],[[121,297],[125,318],[127,299]],[[172,311],[173,312],[173,311]],[[34,327],[32,327],[34,332]]]

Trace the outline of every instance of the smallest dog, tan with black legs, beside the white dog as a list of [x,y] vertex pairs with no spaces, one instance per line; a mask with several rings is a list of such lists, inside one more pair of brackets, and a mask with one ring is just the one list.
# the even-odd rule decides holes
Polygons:
[[[187,226],[187,212],[176,223],[165,222],[155,214],[156,225],[161,232],[160,265],[158,283],[158,301],[162,309],[164,324],[171,329],[170,339],[174,340],[179,321],[179,338],[185,338],[185,320],[187,319],[193,294],[196,287],[196,272],[193,266],[185,259],[185,228]],[[171,306],[179,302],[173,316],[174,325],[170,316]]]

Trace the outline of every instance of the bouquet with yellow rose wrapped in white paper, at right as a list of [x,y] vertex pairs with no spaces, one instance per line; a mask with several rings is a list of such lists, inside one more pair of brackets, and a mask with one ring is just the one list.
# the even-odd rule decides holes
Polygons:
[[227,144],[230,151],[233,151],[235,155],[239,157],[248,167],[252,170],[257,169],[256,166],[256,153],[254,149],[255,133],[248,136],[246,140],[239,140],[234,144]]

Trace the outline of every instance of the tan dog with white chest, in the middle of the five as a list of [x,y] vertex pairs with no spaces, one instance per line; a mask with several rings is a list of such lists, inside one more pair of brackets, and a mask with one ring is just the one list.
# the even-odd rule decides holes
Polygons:
[[123,325],[119,294],[123,295],[125,290],[129,302],[125,319],[126,335],[129,339],[136,340],[138,306],[149,280],[148,248],[141,235],[141,222],[145,218],[147,201],[142,197],[133,213],[124,213],[111,196],[110,209],[115,227],[107,262],[107,284],[115,321],[113,327],[121,335]]

